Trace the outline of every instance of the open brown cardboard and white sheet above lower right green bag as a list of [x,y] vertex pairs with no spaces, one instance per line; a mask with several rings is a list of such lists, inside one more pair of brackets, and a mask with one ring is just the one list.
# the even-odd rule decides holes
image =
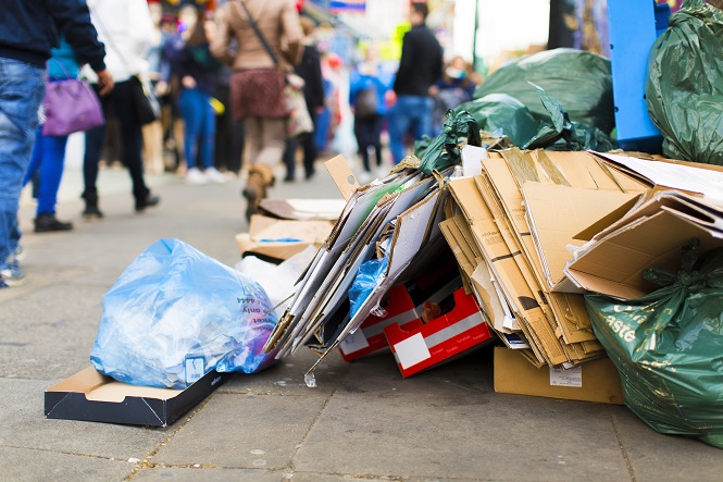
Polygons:
[[577,287],[636,298],[656,289],[643,272],[650,267],[677,270],[681,248],[700,240],[700,256],[723,245],[723,169],[686,162],[596,156],[649,186],[646,201],[615,222],[581,233],[589,239],[564,271]]

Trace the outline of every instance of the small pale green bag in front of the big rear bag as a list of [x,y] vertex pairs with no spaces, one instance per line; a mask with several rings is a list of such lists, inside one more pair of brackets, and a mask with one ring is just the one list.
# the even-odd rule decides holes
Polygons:
[[515,146],[523,146],[537,134],[539,121],[522,102],[507,94],[490,94],[464,102],[456,110],[472,114],[482,131],[501,131]]

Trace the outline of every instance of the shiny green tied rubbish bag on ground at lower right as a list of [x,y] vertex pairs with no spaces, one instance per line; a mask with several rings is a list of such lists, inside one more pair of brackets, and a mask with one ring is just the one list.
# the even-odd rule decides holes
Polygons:
[[723,448],[723,248],[695,269],[699,244],[678,273],[652,268],[662,286],[621,301],[585,295],[596,336],[620,371],[627,405],[661,433]]

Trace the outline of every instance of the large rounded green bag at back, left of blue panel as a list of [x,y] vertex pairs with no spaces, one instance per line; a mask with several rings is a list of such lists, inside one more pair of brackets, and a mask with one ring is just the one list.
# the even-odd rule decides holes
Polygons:
[[570,113],[570,120],[609,134],[615,125],[610,61],[591,52],[554,49],[504,65],[479,86],[474,98],[507,94],[521,101],[538,121],[548,113],[528,82],[539,85]]

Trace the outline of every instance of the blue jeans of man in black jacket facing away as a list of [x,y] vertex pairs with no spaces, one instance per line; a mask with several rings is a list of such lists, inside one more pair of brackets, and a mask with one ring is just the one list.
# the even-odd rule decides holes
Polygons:
[[432,109],[434,101],[431,97],[399,96],[397,103],[387,113],[389,125],[389,149],[395,164],[404,158],[404,136],[411,129],[414,139],[432,135]]

